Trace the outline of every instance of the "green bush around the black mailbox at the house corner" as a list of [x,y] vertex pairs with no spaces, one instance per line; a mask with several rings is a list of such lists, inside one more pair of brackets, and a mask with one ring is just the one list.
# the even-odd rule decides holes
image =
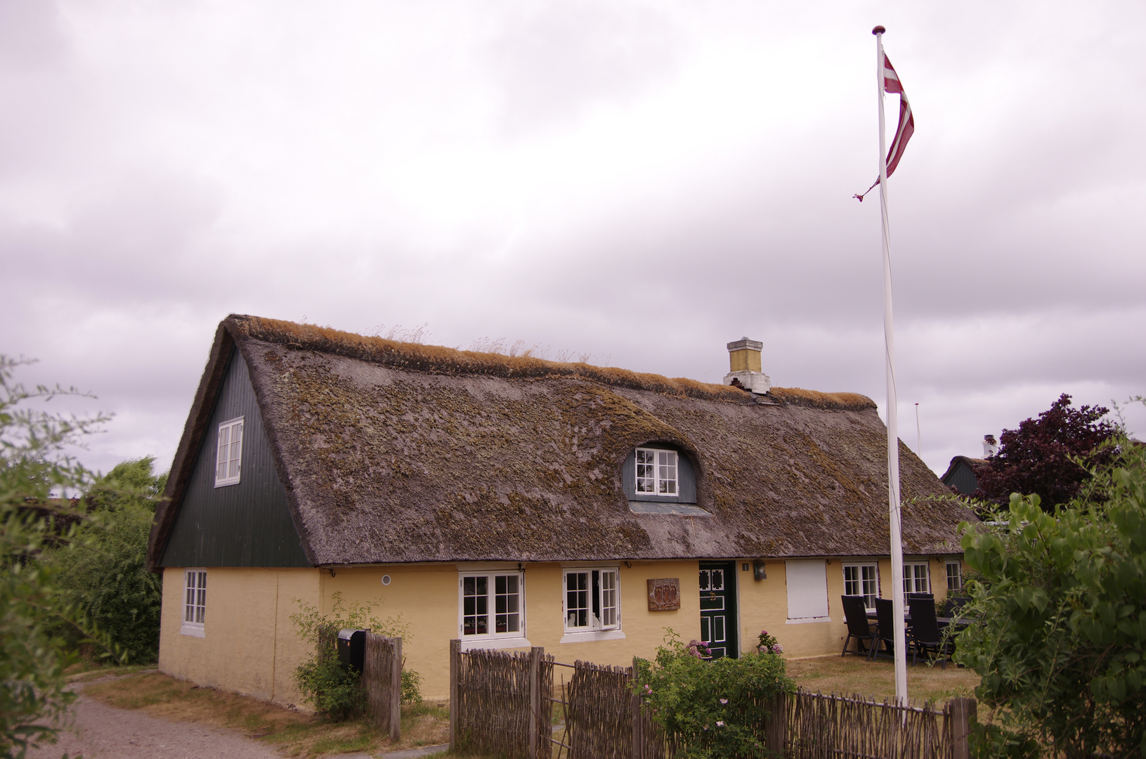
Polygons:
[[[366,704],[364,690],[359,682],[362,673],[353,668],[343,670],[338,663],[338,631],[370,629],[405,640],[409,632],[401,615],[380,621],[372,615],[374,609],[382,604],[380,600],[369,603],[355,601],[347,607],[340,592],[331,596],[329,615],[323,615],[317,608],[298,598],[295,603],[299,610],[291,615],[291,621],[298,626],[299,637],[314,645],[314,654],[295,671],[295,682],[303,693],[303,701],[336,722],[361,714]],[[411,681],[411,693],[417,694],[421,678],[417,673],[410,674],[416,679]],[[403,671],[402,701],[406,701],[406,695],[407,676]],[[421,695],[417,699],[421,701]]]

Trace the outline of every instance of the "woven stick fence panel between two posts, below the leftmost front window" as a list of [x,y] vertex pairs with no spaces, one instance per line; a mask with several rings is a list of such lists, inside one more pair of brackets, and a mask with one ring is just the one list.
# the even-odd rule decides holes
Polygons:
[[504,759],[550,756],[554,657],[466,651],[450,641],[449,746]]

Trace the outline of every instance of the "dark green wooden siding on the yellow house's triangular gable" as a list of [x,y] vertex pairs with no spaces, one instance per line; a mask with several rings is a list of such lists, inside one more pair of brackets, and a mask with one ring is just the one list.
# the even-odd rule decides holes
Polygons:
[[[242,477],[214,486],[219,424],[244,417]],[[233,351],[160,566],[309,566],[275,471],[246,362]]]

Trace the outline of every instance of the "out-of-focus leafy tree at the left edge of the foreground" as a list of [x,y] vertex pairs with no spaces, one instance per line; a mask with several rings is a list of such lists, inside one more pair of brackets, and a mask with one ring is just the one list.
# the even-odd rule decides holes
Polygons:
[[74,652],[53,624],[65,621],[88,636],[93,629],[62,602],[57,573],[40,557],[47,546],[73,538],[74,526],[61,533],[57,521],[78,516],[71,501],[52,499],[53,491],[91,482],[65,451],[107,421],[34,406],[76,391],[14,382],[22,363],[0,355],[0,758],[23,757],[29,746],[54,740],[53,721],[73,698],[63,671]]

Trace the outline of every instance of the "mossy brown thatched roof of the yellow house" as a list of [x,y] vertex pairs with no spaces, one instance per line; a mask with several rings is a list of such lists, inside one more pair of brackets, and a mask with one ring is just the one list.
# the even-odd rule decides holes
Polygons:
[[[743,390],[231,315],[156,514],[167,535],[237,349],[314,565],[888,554],[887,432],[868,398]],[[213,433],[213,431],[212,431]],[[621,465],[661,443],[711,516],[635,514]],[[908,554],[974,519],[900,446]]]

